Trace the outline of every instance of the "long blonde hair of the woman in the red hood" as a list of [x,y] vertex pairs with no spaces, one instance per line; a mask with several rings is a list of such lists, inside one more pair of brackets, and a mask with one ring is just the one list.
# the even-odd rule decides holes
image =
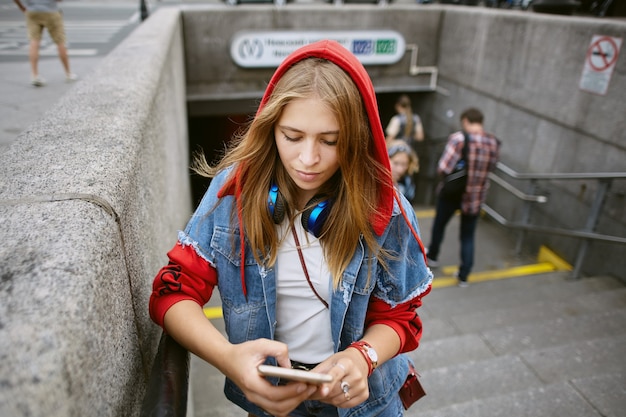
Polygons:
[[[257,262],[273,266],[280,244],[267,208],[272,182],[286,200],[290,221],[298,214],[297,186],[283,167],[276,148],[274,126],[292,100],[316,96],[333,111],[340,126],[337,140],[339,171],[321,192],[333,200],[320,242],[335,288],[352,259],[360,236],[374,255],[380,247],[370,219],[376,213],[381,181],[389,174],[374,157],[373,138],[363,99],[352,79],[334,63],[307,58],[294,64],[276,83],[265,106],[226,152],[210,167],[204,158],[196,171],[206,176],[236,166],[241,178],[241,219]],[[234,170],[235,171],[235,170]],[[380,260],[382,265],[385,263]]]

